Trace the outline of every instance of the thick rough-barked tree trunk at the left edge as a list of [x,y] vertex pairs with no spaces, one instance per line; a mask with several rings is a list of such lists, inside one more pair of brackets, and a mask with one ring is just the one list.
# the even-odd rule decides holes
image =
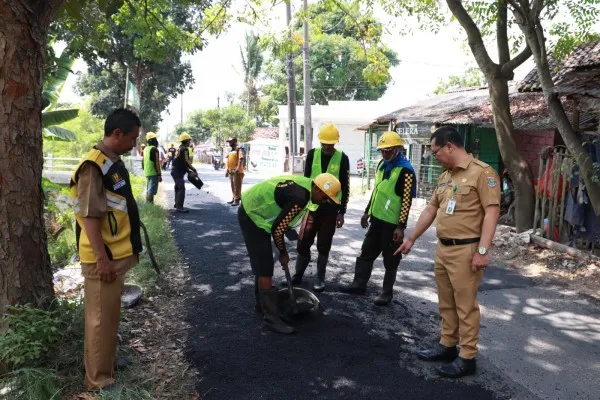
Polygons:
[[0,313],[53,296],[42,203],[42,80],[59,1],[0,3]]

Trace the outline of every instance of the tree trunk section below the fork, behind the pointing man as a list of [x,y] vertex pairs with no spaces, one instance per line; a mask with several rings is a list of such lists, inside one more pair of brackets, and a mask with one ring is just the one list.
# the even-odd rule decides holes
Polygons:
[[513,136],[508,81],[503,78],[488,79],[488,86],[498,148],[515,187],[515,227],[517,232],[522,232],[531,228],[533,224],[533,179],[529,165],[519,153]]

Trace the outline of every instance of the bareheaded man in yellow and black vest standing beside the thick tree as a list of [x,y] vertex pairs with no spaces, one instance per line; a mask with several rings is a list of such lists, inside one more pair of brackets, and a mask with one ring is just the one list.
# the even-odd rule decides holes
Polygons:
[[125,274],[142,250],[140,219],[129,173],[119,157],[135,147],[140,120],[117,109],[104,124],[104,138],[71,178],[77,248],[84,276],[85,385],[115,388],[115,355]]

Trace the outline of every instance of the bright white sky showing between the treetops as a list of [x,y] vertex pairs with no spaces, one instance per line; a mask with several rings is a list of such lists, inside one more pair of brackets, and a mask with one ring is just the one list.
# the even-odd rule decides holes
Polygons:
[[[298,1],[295,3],[300,5]],[[268,17],[271,29],[283,29],[285,6],[277,6]],[[392,25],[392,20],[385,13],[378,12],[376,17],[384,26]],[[410,21],[403,23],[409,24]],[[225,105],[226,92],[237,94],[243,90],[240,44],[250,30],[259,35],[266,32],[266,28],[261,26],[235,24],[220,37],[209,39],[205,49],[184,58],[190,62],[195,79],[194,85],[183,94],[184,121],[191,111],[216,107],[217,97],[220,97],[221,106]],[[431,96],[440,80],[460,75],[475,65],[473,56],[465,48],[465,34],[456,24],[443,28],[437,34],[414,30],[412,34],[401,35],[398,29],[390,30],[384,35],[383,42],[398,53],[400,65],[390,70],[392,82],[380,99],[382,115]],[[85,71],[85,63],[78,61],[74,68]],[[516,71],[515,79],[524,77],[531,68],[533,62],[529,60]],[[76,79],[74,75],[69,77],[61,101],[80,101],[72,90]],[[180,122],[181,110],[182,96],[178,96],[163,113],[159,129],[162,134],[173,131]]]

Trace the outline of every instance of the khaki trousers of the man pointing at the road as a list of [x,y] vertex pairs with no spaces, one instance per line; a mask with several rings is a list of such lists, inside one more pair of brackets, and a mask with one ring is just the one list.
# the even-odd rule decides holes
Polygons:
[[440,343],[446,347],[460,343],[460,356],[466,359],[477,355],[479,343],[477,291],[483,271],[471,271],[476,249],[477,243],[444,246],[438,242],[435,252],[435,283],[442,317]]

